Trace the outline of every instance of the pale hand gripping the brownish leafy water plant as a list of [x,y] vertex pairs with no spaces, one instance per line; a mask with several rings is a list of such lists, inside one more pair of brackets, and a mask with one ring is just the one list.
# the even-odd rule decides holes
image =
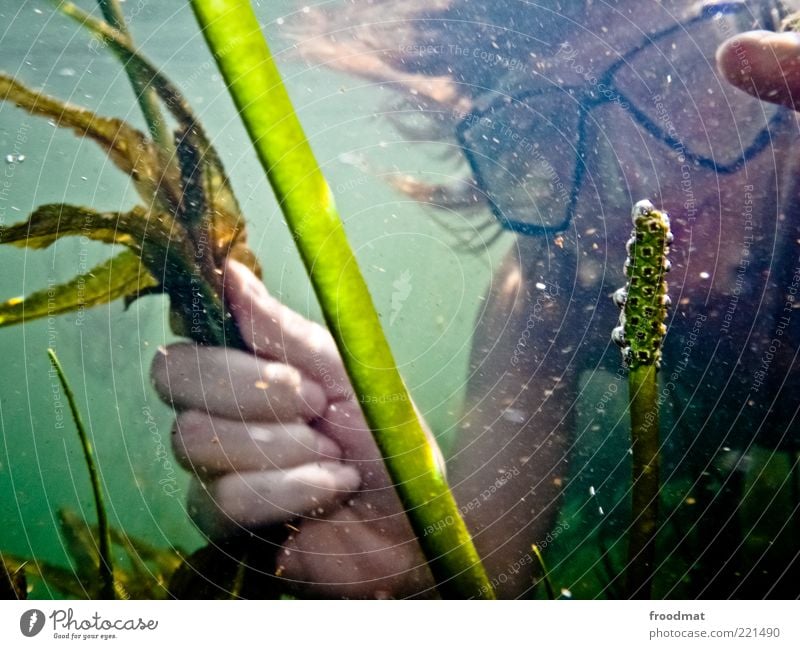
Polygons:
[[[314,595],[420,594],[432,578],[330,333],[236,262],[225,299],[247,346],[171,345],[152,376],[178,410],[189,511],[212,538],[293,521],[276,573]],[[357,492],[357,493],[356,493]]]

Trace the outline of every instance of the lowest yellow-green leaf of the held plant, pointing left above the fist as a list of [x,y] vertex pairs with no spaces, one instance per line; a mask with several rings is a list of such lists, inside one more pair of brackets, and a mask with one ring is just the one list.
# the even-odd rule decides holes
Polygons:
[[119,297],[133,299],[157,286],[158,281],[136,254],[125,251],[69,282],[0,304],[0,327],[106,304]]

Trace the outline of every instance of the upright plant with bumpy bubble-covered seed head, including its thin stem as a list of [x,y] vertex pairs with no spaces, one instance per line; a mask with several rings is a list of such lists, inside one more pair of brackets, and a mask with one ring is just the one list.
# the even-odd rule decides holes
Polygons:
[[657,371],[666,334],[669,218],[649,201],[633,208],[625,274],[628,285],[615,293],[623,309],[612,338],[622,346],[629,368],[628,398],[632,448],[632,527],[628,543],[628,596],[649,599],[656,563],[658,530],[659,417]]

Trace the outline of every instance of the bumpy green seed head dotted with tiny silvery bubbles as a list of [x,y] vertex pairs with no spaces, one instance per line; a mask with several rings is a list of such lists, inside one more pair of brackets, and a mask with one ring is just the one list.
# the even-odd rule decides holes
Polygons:
[[650,201],[636,203],[632,218],[633,232],[626,245],[624,268],[628,284],[613,296],[622,313],[611,337],[623,348],[623,360],[629,367],[658,367],[670,305],[664,276],[670,269],[667,252],[672,233],[667,214]]

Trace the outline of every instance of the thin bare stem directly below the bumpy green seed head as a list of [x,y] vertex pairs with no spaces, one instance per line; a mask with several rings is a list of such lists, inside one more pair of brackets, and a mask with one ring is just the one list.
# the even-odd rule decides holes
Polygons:
[[632,528],[628,544],[628,593],[649,599],[655,567],[659,500],[658,381],[655,365],[628,374],[633,465]]

